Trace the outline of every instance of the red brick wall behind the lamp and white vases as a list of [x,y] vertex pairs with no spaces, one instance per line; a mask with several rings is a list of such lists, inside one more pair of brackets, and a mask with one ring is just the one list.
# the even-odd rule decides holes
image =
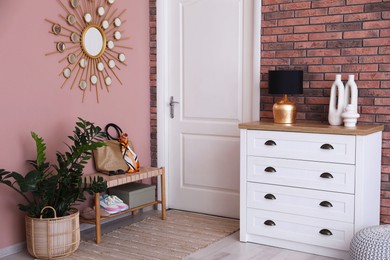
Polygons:
[[261,118],[272,118],[270,69],[302,69],[299,119],[327,122],[336,74],[355,75],[359,124],[385,125],[381,221],[390,223],[390,1],[262,0]]

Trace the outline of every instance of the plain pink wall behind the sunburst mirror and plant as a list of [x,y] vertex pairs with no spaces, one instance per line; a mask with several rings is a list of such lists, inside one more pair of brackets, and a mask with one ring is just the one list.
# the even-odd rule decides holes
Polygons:
[[[59,14],[64,13],[57,1],[0,1],[0,168],[28,170],[25,160],[35,156],[32,130],[44,137],[53,160],[56,150],[64,150],[77,117],[100,126],[119,124],[129,133],[141,165],[150,164],[148,4],[115,2],[119,12],[127,9],[121,29],[133,49],[125,50],[128,66],[117,70],[123,86],[114,78],[110,93],[99,92],[97,104],[94,92],[88,92],[82,103],[77,87],[60,88],[59,73],[66,63],[58,60],[64,55],[45,56],[55,50],[58,38],[48,33],[51,24],[44,19],[60,21]],[[86,172],[92,171],[90,164]],[[15,192],[0,186],[0,249],[25,240],[19,201]]]

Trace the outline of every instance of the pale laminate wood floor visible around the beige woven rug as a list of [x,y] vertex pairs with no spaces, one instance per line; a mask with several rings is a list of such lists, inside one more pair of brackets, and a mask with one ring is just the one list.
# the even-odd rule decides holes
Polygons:
[[[116,221],[110,221],[102,225],[102,233],[111,232],[121,226],[142,220],[154,214],[160,214],[155,210],[137,214],[133,217],[122,217]],[[93,239],[94,228],[81,232],[84,240]],[[2,260],[31,260],[34,259],[26,251],[1,258]],[[66,258],[64,258],[66,259]],[[225,237],[224,239],[201,249],[186,258],[185,260],[332,260],[333,258],[306,254],[302,252],[280,249],[271,246],[257,245],[253,243],[241,243],[239,232]],[[131,259],[129,259],[131,260]]]

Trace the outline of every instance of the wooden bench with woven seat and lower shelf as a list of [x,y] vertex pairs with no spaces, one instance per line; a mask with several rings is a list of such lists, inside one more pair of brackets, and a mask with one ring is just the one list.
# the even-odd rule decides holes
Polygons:
[[101,242],[101,226],[100,223],[102,220],[110,219],[119,215],[123,215],[126,213],[133,213],[136,210],[153,206],[156,204],[161,204],[161,219],[165,220],[166,219],[166,201],[165,201],[165,168],[153,168],[153,167],[141,167],[139,172],[136,173],[126,173],[126,174],[121,174],[121,175],[112,175],[109,176],[107,174],[103,173],[94,173],[91,175],[87,175],[88,178],[87,181],[89,181],[89,176],[91,177],[103,177],[104,180],[107,181],[107,188],[112,188],[115,186],[119,186],[122,184],[130,183],[130,182],[136,182],[144,179],[148,179],[151,177],[158,177],[160,176],[160,199],[156,199],[155,201],[144,204],[141,206],[138,206],[136,208],[131,208],[125,211],[121,211],[116,214],[111,214],[108,217],[100,217],[100,193],[95,194],[95,219],[85,219],[83,217],[80,217],[80,222],[82,223],[88,223],[88,224],[94,224],[96,228],[96,244],[99,244]]

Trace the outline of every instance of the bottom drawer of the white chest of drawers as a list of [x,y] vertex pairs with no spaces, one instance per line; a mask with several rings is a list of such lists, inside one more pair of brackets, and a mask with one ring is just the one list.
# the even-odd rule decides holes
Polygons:
[[264,237],[348,250],[353,230],[351,223],[247,209],[247,232]]

